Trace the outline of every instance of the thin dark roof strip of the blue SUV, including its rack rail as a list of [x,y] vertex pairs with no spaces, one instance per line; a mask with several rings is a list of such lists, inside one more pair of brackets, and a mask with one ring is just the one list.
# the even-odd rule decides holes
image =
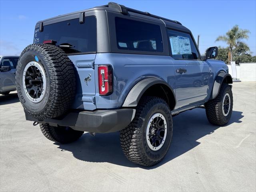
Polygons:
[[72,13],[68,13],[68,14],[64,14],[64,15],[59,15],[59,16],[56,16],[56,17],[53,17],[53,18],[48,18],[46,20],[38,21],[36,24],[46,22],[48,20],[53,20],[53,19],[57,19],[57,18],[60,18],[60,17],[72,15],[72,14],[79,14],[81,12],[88,12],[88,11],[93,11],[93,10],[109,10],[109,11],[114,11],[114,12],[120,12],[122,14],[128,14],[128,12],[133,12],[133,13],[142,14],[142,15],[145,15],[145,16],[150,16],[150,17],[153,17],[153,18],[158,18],[158,19],[161,19],[161,20],[166,20],[166,21],[169,21],[169,22],[172,22],[172,23],[182,25],[178,21],[174,21],[174,20],[170,20],[170,19],[163,18],[163,17],[160,17],[160,16],[156,16],[156,15],[150,14],[148,12],[143,12],[143,11],[135,10],[135,9],[132,9],[132,8],[128,8],[124,5],[120,5],[120,4],[117,4],[117,3],[114,3],[114,2],[109,2],[107,5],[103,5],[103,6],[97,6],[97,7],[82,10],[82,11],[76,11],[76,12],[72,12]]

